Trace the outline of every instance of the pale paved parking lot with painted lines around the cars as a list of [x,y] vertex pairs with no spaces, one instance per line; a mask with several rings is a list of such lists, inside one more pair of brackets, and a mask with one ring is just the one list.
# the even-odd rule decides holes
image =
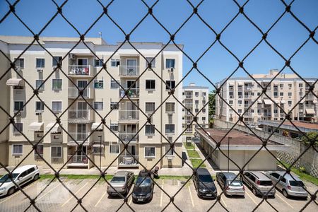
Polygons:
[[[72,211],[76,206],[76,199],[64,188],[61,183],[55,181],[49,184],[49,179],[38,180],[31,184],[26,185],[23,190],[35,198],[37,194],[45,189],[37,198],[36,206],[41,211]],[[68,187],[73,194],[78,197],[83,197],[88,192],[88,189],[96,183],[96,179],[63,179],[64,184]],[[170,196],[173,196],[182,186],[183,182],[177,179],[156,179],[156,182],[161,188]],[[216,184],[218,193],[220,187]],[[134,211],[162,211],[170,201],[170,198],[155,185],[153,200],[148,204],[134,204],[131,201],[131,196],[127,204],[123,205],[123,200],[120,198],[110,198],[106,193],[107,184],[105,182],[98,182],[93,189],[86,194],[83,198],[83,207],[88,211],[131,211],[129,206]],[[314,192],[317,188],[310,188]],[[131,193],[130,190],[129,194]],[[257,204],[262,200],[260,197],[254,196],[249,189],[245,189],[245,198],[228,197],[222,195],[220,203],[228,211],[252,211]],[[276,192],[276,197],[269,199],[269,203],[278,211],[300,211],[300,209],[307,204],[308,200],[305,199],[287,199],[281,194]],[[180,190],[179,194],[175,196],[174,204],[170,203],[165,211],[179,211],[176,206],[182,211],[208,211],[213,204],[213,211],[225,211],[223,206],[220,205],[215,199],[199,199],[196,196],[194,184],[192,180],[185,184]],[[29,200],[21,193],[16,192],[11,196],[0,198],[0,211],[25,211],[29,206]],[[305,211],[317,211],[317,203],[310,203]],[[33,206],[28,208],[28,211],[37,211]],[[74,211],[84,211],[81,206],[77,206]],[[269,204],[264,202],[259,206],[257,211],[275,211]]]

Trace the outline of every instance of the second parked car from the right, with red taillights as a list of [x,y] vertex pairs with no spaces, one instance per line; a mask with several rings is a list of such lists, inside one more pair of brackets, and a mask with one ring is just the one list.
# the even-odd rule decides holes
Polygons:
[[269,192],[268,196],[275,196],[275,188],[271,179],[264,175],[262,172],[243,172],[241,181],[245,182],[251,189],[254,195],[264,196]]

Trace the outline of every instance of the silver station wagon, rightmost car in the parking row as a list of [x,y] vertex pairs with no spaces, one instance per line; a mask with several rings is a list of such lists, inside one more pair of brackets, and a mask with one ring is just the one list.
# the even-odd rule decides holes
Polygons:
[[[267,172],[267,175],[271,180],[273,181],[273,184],[276,184],[279,179],[279,181],[276,184],[276,188],[281,190],[283,192],[283,195],[285,197],[288,196],[298,196],[302,198],[307,198],[308,193],[306,192],[305,184],[302,182],[301,179],[299,179],[298,176],[293,174],[286,174],[284,177],[283,175],[285,172]],[[292,177],[293,176],[293,177]]]

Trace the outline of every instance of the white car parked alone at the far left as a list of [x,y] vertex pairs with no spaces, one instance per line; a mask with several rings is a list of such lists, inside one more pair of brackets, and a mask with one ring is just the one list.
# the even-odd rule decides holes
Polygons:
[[[21,187],[31,180],[39,179],[40,172],[36,165],[23,165],[21,167],[17,167],[16,170],[12,172],[12,175],[13,181]],[[4,196],[6,194],[11,195],[17,188],[18,187],[16,187],[16,185],[8,177],[8,174],[0,178],[0,196]]]

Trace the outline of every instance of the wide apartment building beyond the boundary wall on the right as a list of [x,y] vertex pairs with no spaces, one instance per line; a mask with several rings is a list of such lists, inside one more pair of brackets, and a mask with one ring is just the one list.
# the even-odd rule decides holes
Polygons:
[[[268,74],[252,74],[252,76],[264,87],[270,83],[277,73],[278,70],[270,70]],[[314,81],[317,81],[317,78],[305,78],[305,81],[312,85]],[[318,122],[317,98],[312,93],[302,98],[310,88],[305,81],[302,81],[295,74],[279,74],[266,90],[266,94],[273,101],[266,97],[266,95],[261,95],[261,86],[249,77],[229,78],[227,81],[224,79],[217,83],[217,86],[220,88],[220,96],[239,114],[243,114],[249,105],[261,95],[244,114],[245,123],[283,120],[285,114],[281,108],[285,112],[291,111],[290,118],[292,120]],[[317,83],[314,86],[314,93],[318,95]],[[237,122],[239,117],[225,104],[225,101],[216,95],[216,118],[228,122]],[[299,101],[300,104],[293,109],[294,105]]]

